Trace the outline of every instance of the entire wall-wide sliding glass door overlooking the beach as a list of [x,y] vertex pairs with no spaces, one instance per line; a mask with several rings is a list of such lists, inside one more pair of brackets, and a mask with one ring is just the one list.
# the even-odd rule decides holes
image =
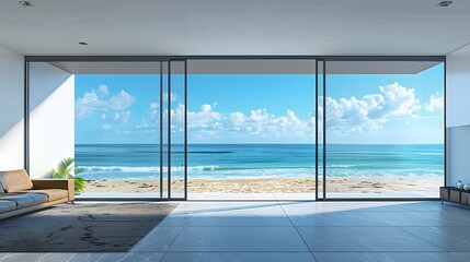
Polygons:
[[439,58],[139,59],[27,62],[33,177],[74,158],[81,198],[436,198],[444,184]]

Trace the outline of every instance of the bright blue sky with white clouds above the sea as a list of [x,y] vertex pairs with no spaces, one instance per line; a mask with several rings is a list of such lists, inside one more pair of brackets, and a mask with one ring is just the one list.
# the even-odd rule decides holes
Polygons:
[[[326,80],[330,143],[443,142],[442,64]],[[158,75],[76,75],[76,143],[158,143],[159,83]],[[188,142],[312,143],[313,87],[313,75],[188,75]],[[182,88],[171,104],[177,142]]]

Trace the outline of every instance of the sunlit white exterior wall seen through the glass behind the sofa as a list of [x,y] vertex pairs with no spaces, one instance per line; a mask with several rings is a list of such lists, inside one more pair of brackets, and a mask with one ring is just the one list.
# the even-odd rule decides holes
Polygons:
[[48,177],[74,154],[74,76],[45,62],[30,64],[30,176]]

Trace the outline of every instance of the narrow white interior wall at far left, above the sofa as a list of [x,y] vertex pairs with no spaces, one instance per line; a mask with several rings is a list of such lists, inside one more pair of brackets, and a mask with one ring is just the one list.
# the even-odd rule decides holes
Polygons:
[[24,57],[0,46],[0,170],[24,167]]

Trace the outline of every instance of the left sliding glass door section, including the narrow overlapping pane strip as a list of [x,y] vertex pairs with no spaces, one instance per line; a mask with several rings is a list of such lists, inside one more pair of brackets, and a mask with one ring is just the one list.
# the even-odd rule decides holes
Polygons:
[[186,198],[185,61],[30,62],[30,174],[81,198]]

